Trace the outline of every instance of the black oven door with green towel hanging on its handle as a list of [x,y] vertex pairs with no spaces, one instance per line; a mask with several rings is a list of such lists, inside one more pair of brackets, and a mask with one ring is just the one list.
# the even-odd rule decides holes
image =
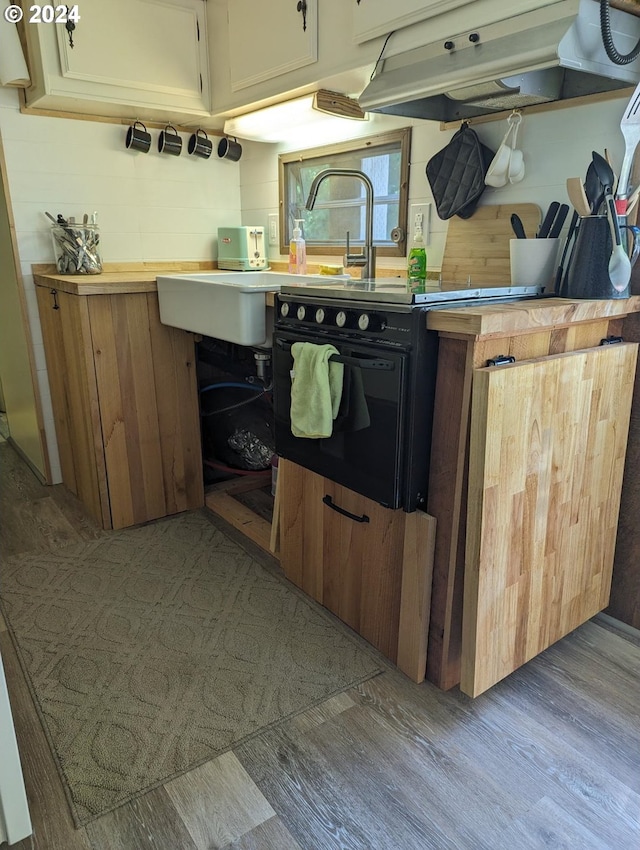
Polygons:
[[[291,433],[291,345],[303,341],[335,345],[344,362],[342,402],[330,437]],[[273,370],[277,454],[386,507],[401,507],[408,354],[277,331]]]

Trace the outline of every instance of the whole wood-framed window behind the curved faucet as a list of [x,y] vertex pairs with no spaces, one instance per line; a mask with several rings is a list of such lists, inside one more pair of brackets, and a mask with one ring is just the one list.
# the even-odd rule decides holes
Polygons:
[[411,130],[406,129],[281,154],[278,160],[282,253],[289,251],[295,219],[304,220],[308,254],[344,254],[347,231],[351,246],[364,244],[366,190],[357,177],[328,177],[320,185],[314,208],[305,208],[317,174],[326,168],[356,168],[373,183],[373,241],[378,255],[404,255],[410,140]]

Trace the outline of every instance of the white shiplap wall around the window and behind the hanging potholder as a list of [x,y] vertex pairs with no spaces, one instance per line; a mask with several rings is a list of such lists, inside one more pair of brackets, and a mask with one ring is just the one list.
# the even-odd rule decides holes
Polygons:
[[[524,153],[525,177],[513,186],[487,188],[481,203],[535,203],[543,210],[553,200],[568,203],[566,178],[584,177],[592,150],[603,152],[607,148],[614,166],[619,168],[624,153],[624,140],[619,125],[626,104],[625,96],[525,115],[517,139],[517,145]],[[375,123],[358,125],[358,131],[359,135],[369,135],[387,128],[407,126],[413,127],[409,203],[432,203],[427,258],[430,269],[439,269],[447,222],[441,221],[435,212],[425,168],[429,159],[451,139],[453,131],[443,132],[440,125],[433,121],[403,121],[388,116],[376,116]],[[480,124],[474,129],[486,145],[497,150],[507,126],[506,120],[502,120]],[[315,146],[313,141],[311,146]],[[268,214],[278,212],[278,154],[291,149],[285,144],[245,143],[240,161],[244,224],[264,224],[266,227]],[[286,259],[277,253],[277,249],[270,248],[269,251],[274,260]],[[335,257],[328,259],[336,261]],[[397,268],[403,262],[402,259],[383,257],[378,264],[379,267]]]

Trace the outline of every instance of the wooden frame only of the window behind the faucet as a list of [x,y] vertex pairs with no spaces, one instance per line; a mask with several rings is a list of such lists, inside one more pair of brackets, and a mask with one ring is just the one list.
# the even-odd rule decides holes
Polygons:
[[[407,253],[407,219],[409,208],[409,159],[411,155],[411,127],[402,130],[390,130],[374,136],[360,136],[347,142],[333,145],[323,145],[317,148],[307,148],[299,151],[288,151],[278,156],[278,195],[279,195],[279,224],[280,224],[280,253],[288,255],[290,236],[287,236],[286,221],[286,185],[285,166],[292,162],[314,159],[320,156],[333,156],[339,153],[366,151],[375,147],[388,145],[390,142],[400,142],[400,193],[398,206],[398,228],[401,238],[395,246],[376,246],[379,257],[400,257]],[[336,245],[310,245],[306,243],[307,255],[338,255],[345,253],[345,243]]]

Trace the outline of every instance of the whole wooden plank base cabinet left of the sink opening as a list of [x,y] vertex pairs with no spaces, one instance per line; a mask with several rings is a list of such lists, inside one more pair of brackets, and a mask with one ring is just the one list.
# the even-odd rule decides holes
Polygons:
[[155,292],[36,291],[64,484],[103,528],[202,506],[193,335]]

